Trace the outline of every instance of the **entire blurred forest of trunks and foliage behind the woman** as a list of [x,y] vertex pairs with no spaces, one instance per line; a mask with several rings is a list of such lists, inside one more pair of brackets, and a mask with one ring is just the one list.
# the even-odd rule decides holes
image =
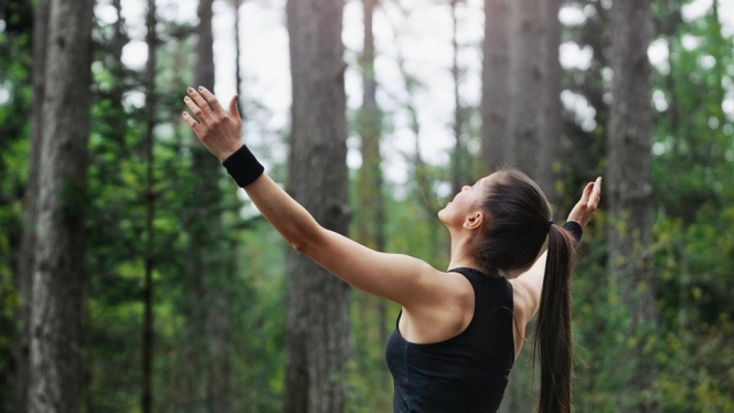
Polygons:
[[[181,117],[440,271],[511,166],[562,224],[576,412],[734,412],[733,0],[3,0],[0,412],[392,411],[400,305],[288,247]],[[501,412],[538,403],[523,346]]]

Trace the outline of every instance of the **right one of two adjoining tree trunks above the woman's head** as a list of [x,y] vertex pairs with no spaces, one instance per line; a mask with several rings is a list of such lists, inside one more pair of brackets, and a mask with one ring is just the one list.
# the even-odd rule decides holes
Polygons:
[[512,1],[512,43],[510,43],[510,113],[507,140],[512,141],[510,163],[538,177],[543,114],[543,2]]

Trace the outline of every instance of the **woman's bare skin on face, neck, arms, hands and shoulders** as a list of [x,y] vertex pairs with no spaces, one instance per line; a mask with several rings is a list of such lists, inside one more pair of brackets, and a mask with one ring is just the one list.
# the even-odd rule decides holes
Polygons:
[[[227,115],[216,97],[204,87],[188,89],[184,102],[196,119],[182,116],[204,146],[225,160],[242,146],[242,119],[234,96]],[[486,188],[496,179],[490,174],[472,187],[464,187],[443,210],[438,219],[451,236],[451,261],[448,268],[481,266],[471,257],[470,246],[489,216],[479,208]],[[602,178],[589,182],[568,214],[583,227],[592,220],[599,202]],[[438,271],[424,261],[402,254],[370,250],[343,235],[329,231],[288,195],[266,173],[245,188],[257,209],[296,251],[331,274],[366,293],[387,298],[403,307],[400,332],[411,342],[438,342],[457,336],[474,317],[475,295],[469,280],[459,273]],[[524,339],[525,325],[540,305],[545,253],[526,271],[506,274],[513,288],[515,357]]]

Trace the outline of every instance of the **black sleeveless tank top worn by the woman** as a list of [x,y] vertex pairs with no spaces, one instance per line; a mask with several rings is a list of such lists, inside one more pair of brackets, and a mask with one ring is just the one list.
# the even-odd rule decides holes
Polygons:
[[450,271],[471,283],[474,317],[458,336],[429,345],[405,341],[395,322],[385,347],[395,413],[496,412],[502,401],[514,362],[512,286],[477,269]]

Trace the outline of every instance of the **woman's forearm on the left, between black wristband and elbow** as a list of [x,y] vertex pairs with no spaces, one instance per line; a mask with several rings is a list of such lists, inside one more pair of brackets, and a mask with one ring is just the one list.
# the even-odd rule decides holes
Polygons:
[[302,251],[321,230],[313,216],[266,173],[245,187],[245,191],[294,250]]

